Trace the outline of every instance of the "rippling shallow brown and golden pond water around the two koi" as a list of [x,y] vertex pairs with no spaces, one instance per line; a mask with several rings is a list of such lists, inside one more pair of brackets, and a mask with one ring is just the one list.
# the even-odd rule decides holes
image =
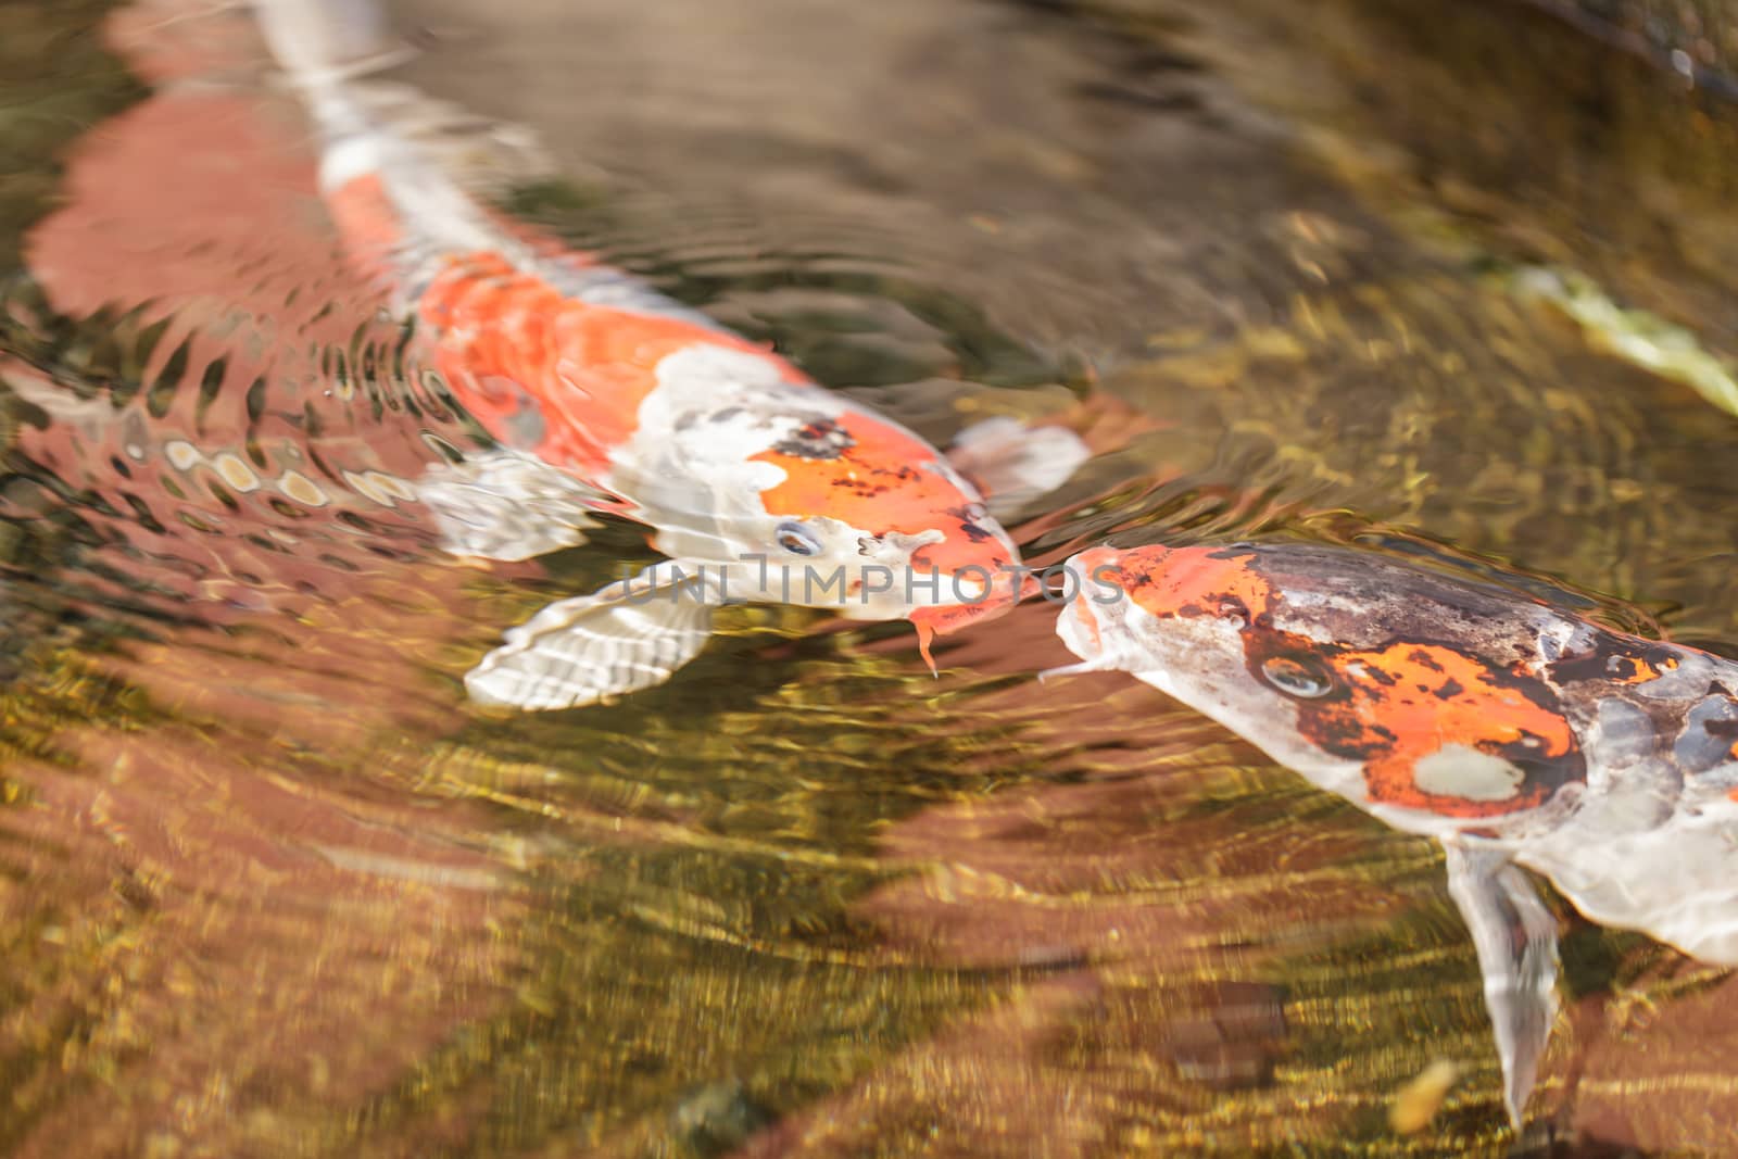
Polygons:
[[[820,382],[1081,429],[1039,561],[1354,542],[1738,655],[1738,419],[1516,290],[1738,365],[1738,109],[1524,5],[1293,7],[419,0],[400,76],[541,136],[513,212]],[[640,535],[438,549],[398,480],[478,434],[243,19],[0,19],[9,1150],[1514,1145],[1436,848],[1126,678],[1034,683],[1041,601],[940,679],[737,608],[622,704],[468,705]],[[1724,1154],[1724,973],[1559,912],[1524,1147]]]

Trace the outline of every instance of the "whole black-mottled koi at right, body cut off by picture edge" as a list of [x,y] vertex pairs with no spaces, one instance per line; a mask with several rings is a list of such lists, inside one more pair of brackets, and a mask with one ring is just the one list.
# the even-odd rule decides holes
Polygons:
[[1557,923],[1738,966],[1738,664],[1526,596],[1304,544],[1093,547],[1057,634],[1406,832],[1472,931],[1516,1128]]

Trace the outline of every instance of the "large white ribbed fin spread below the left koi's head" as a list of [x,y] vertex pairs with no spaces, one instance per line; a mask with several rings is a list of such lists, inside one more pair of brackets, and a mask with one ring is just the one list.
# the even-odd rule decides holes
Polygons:
[[553,603],[464,678],[481,704],[572,709],[652,688],[692,660],[725,593],[716,573],[662,561],[589,596]]

